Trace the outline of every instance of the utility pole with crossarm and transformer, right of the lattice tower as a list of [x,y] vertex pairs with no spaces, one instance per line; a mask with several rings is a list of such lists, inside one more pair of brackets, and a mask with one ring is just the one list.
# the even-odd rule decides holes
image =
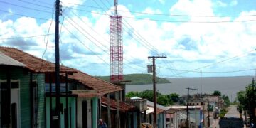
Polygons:
[[155,64],[155,60],[156,58],[166,58],[166,56],[149,56],[149,59],[152,58],[153,60],[153,92],[154,92],[154,128],[156,128],[156,64]]

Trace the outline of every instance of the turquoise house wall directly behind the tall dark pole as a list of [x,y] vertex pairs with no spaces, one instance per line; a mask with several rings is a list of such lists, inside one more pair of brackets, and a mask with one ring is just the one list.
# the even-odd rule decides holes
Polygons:
[[[55,97],[52,97],[53,109],[55,109],[55,101]],[[63,104],[63,113],[60,113],[60,127],[64,128],[64,109],[66,108],[65,97],[60,97],[60,102]],[[75,128],[75,97],[68,97],[68,107],[71,107],[71,128]],[[70,125],[70,119],[68,120],[68,124]],[[46,97],[46,127],[50,128],[50,97]]]

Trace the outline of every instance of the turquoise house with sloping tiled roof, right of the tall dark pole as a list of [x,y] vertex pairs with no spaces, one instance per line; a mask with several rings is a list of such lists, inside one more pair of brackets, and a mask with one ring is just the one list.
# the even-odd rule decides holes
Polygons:
[[[79,90],[80,92],[91,90],[91,93],[80,93],[76,99],[77,127],[97,127],[97,120],[105,117],[106,114],[106,112],[102,112],[102,97],[108,94],[114,95],[116,92],[122,91],[122,89],[117,85],[92,77],[79,70],[73,75],[68,75],[68,79],[73,81],[71,86],[74,90]],[[104,98],[103,101],[105,101]],[[104,118],[103,120],[108,122],[107,119]],[[111,121],[114,120],[116,119],[112,117]],[[109,125],[110,123],[107,124]]]

